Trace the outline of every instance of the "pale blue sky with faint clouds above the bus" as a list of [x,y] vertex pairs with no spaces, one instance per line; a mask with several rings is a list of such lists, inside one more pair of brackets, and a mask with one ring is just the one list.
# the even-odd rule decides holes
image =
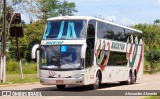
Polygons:
[[[63,0],[61,0],[63,1]],[[74,2],[75,15],[94,16],[122,25],[152,24],[160,19],[160,0],[66,0]]]

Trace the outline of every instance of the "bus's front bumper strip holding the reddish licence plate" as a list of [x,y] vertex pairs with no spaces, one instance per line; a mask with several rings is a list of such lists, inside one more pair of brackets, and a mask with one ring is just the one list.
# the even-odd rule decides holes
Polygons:
[[42,85],[83,85],[83,78],[40,78]]

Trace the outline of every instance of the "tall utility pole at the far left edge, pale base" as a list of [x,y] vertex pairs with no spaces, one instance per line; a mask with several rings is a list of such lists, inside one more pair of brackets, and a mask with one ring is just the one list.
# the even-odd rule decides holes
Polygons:
[[2,28],[2,49],[1,49],[1,67],[0,80],[4,83],[6,80],[6,0],[3,0],[3,28]]

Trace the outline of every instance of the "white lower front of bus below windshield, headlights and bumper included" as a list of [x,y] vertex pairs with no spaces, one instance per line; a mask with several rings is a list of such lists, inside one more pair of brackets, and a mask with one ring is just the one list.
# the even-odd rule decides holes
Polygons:
[[41,70],[40,81],[44,85],[84,85],[84,70]]

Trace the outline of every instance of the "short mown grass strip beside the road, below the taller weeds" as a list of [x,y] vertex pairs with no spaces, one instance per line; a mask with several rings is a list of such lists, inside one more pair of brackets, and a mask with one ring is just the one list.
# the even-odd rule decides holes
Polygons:
[[37,74],[24,74],[23,76],[24,76],[24,79],[22,80],[20,74],[7,74],[6,82],[0,85],[39,82],[39,78],[37,77]]

